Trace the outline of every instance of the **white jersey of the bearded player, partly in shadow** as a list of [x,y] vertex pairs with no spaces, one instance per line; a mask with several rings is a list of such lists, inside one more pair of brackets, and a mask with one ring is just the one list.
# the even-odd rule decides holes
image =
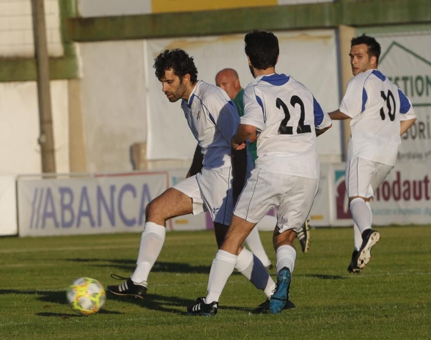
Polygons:
[[189,99],[182,100],[181,108],[201,147],[203,166],[230,166],[232,136],[238,128],[239,115],[226,92],[199,80]]

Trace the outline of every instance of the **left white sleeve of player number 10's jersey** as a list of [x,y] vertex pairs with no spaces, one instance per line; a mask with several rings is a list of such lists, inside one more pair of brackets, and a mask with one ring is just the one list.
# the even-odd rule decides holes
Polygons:
[[347,84],[346,94],[340,104],[340,112],[355,118],[362,111],[366,102],[363,77],[354,77]]

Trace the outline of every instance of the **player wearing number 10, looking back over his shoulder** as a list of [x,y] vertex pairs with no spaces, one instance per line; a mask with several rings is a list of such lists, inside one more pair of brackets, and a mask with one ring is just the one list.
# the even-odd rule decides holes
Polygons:
[[379,232],[371,229],[370,200],[394,168],[400,136],[416,120],[412,103],[377,69],[381,48],[365,34],[351,40],[353,77],[332,119],[349,119],[346,189],[353,218],[355,249],[349,272],[361,272],[371,258]]

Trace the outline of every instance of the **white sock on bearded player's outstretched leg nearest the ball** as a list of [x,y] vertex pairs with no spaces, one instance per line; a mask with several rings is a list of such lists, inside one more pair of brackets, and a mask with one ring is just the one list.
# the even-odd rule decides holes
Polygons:
[[[166,228],[153,222],[145,223],[145,230],[141,236],[141,245],[139,246],[138,260],[136,269],[131,279],[135,283],[144,283],[148,281],[148,275],[154,266],[157,257],[165,243]],[[145,282],[144,282],[145,281]]]

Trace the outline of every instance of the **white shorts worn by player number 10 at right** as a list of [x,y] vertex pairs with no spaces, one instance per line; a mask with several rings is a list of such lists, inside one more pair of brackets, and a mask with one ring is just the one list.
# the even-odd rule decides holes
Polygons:
[[348,197],[370,198],[394,167],[361,157],[351,157],[346,163],[346,191]]

